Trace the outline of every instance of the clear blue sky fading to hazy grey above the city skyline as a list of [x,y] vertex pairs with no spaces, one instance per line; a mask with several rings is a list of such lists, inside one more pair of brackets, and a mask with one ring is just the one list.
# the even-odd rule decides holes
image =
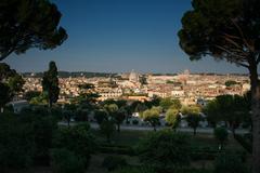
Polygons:
[[191,62],[178,31],[191,0],[52,0],[68,39],[55,50],[29,50],[5,61],[20,72],[60,70],[126,72],[247,72],[212,57]]

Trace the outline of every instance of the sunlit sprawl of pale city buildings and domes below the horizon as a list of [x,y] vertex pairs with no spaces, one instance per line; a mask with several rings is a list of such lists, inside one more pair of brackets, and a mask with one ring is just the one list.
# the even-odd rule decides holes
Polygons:
[[[41,78],[35,74],[26,76],[24,92],[42,92]],[[183,105],[205,105],[218,95],[240,95],[250,90],[249,78],[245,75],[207,75],[191,74],[184,70],[178,75],[141,75],[134,70],[109,77],[60,78],[60,99],[57,103],[69,103],[80,94],[80,84],[91,83],[94,92],[105,99],[151,101],[153,97],[173,97]],[[231,84],[230,84],[231,82]]]

